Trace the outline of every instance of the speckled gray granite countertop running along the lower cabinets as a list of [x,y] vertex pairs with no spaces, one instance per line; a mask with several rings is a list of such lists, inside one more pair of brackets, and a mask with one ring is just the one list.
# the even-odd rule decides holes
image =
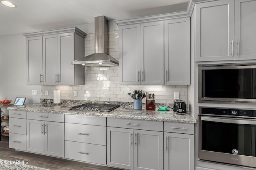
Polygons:
[[196,123],[196,119],[190,114],[184,115],[176,114],[172,110],[158,111],[146,110],[142,107],[141,110],[134,110],[131,107],[120,106],[117,109],[106,112],[100,111],[74,111],[69,108],[71,105],[62,104],[59,106],[53,106],[50,104],[27,104],[26,107],[8,107],[8,110],[19,111],[32,111],[32,112],[44,112],[44,113],[59,113],[59,114],[73,114],[73,115],[87,115],[98,117],[113,117],[123,119],[138,119],[138,120],[152,120],[152,121],[170,121],[170,122],[182,122],[182,123]]

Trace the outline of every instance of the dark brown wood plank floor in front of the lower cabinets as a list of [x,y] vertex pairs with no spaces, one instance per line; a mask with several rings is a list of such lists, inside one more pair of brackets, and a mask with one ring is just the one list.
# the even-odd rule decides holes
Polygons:
[[9,148],[8,137],[4,136],[1,137],[0,141],[0,159],[11,161],[28,160],[29,165],[50,170],[120,170],[117,168],[16,151]]

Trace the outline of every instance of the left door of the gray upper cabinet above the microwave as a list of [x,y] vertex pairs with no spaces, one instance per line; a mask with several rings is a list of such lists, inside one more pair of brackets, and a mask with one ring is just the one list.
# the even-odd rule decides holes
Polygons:
[[234,60],[234,0],[196,4],[195,9],[195,61]]

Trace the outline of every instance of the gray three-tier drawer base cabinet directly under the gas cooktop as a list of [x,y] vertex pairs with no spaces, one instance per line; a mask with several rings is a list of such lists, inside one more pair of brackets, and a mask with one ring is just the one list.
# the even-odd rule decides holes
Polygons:
[[65,158],[106,165],[106,117],[65,115]]

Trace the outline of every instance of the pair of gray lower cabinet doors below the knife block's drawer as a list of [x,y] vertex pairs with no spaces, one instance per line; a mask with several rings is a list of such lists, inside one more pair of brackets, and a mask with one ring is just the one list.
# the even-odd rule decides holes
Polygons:
[[162,170],[163,132],[107,127],[107,165]]

